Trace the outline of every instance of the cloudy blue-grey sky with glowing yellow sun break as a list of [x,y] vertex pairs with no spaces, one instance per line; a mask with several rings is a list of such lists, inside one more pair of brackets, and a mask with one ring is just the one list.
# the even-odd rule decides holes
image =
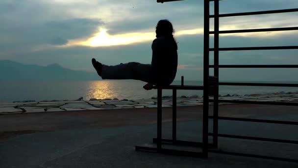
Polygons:
[[[213,13],[210,3],[211,14]],[[223,0],[220,13],[298,8],[297,0]],[[297,27],[298,13],[220,19],[220,30]],[[202,80],[203,0],[0,0],[0,60],[95,72],[103,64],[151,62],[161,19],[178,42],[176,80]],[[212,22],[211,21],[211,30]],[[213,37],[210,37],[211,47]],[[295,46],[298,31],[220,36],[220,47]],[[298,64],[297,50],[220,52],[220,64]],[[212,64],[212,53],[210,63]],[[211,71],[212,72],[212,71]],[[220,69],[220,80],[298,81],[295,69]]]

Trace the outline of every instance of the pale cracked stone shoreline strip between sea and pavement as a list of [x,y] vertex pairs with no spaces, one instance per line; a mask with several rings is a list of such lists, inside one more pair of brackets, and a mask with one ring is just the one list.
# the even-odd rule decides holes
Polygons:
[[[291,94],[292,93],[292,94]],[[224,95],[221,100],[249,100],[249,101],[265,101],[265,102],[297,102],[298,92],[296,93],[278,92],[273,94],[251,94],[251,95]],[[172,96],[163,96],[162,107],[172,107]],[[212,97],[210,97],[212,99]],[[198,95],[190,97],[177,97],[177,107],[181,106],[201,106],[203,98]],[[221,103],[225,105],[230,103]],[[83,100],[83,97],[73,101],[18,101],[15,103],[0,103],[0,114],[9,113],[29,113],[29,112],[65,112],[65,111],[84,111],[84,110],[112,110],[112,109],[142,109],[156,108],[157,99],[140,100],[118,100],[114,99],[89,99]]]

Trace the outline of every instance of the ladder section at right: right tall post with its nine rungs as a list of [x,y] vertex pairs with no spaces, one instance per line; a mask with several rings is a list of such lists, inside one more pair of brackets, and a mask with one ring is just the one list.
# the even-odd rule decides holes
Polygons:
[[[206,0],[205,0],[206,1]],[[298,68],[298,65],[219,65],[218,57],[219,51],[245,51],[245,50],[294,50],[298,49],[298,46],[270,46],[270,47],[230,47],[230,48],[219,48],[219,34],[221,33],[242,33],[242,32],[264,32],[264,31],[288,31],[288,30],[298,30],[298,27],[292,28],[256,28],[256,29],[240,29],[240,30],[219,30],[219,18],[221,17],[231,17],[231,16],[247,16],[247,15],[261,15],[261,14],[273,14],[273,13],[285,13],[285,12],[298,12],[298,8],[294,9],[282,9],[282,10],[270,10],[270,11],[256,11],[256,12],[244,12],[244,13],[231,13],[231,14],[219,14],[219,0],[214,0],[214,15],[204,15],[204,19],[214,18],[214,31],[210,31],[209,35],[214,34],[214,48],[209,48],[209,52],[214,52],[214,65],[208,65],[204,62],[204,67],[207,65],[208,68],[214,68],[214,76],[219,78],[219,68]],[[219,85],[246,85],[246,86],[290,86],[298,87],[298,84],[264,84],[264,83],[216,83],[215,88]],[[218,94],[218,91],[217,91]],[[218,120],[234,120],[234,121],[245,121],[245,122],[263,122],[271,124],[288,124],[297,125],[298,122],[291,121],[276,121],[276,120],[261,120],[261,119],[250,119],[250,118],[235,118],[235,117],[221,117],[218,116],[218,103],[244,103],[244,104],[262,104],[262,105],[284,105],[284,106],[298,106],[298,103],[288,103],[288,102],[259,102],[259,101],[241,101],[241,100],[219,100],[218,97],[214,96],[213,99],[209,99],[209,102],[214,102],[214,113],[213,116],[209,116],[213,119],[213,126],[218,123]],[[215,107],[217,106],[217,107]],[[217,111],[217,112],[216,112]],[[218,126],[218,124],[217,124]],[[249,136],[237,136],[237,135],[226,135],[219,134],[218,128],[213,128],[213,133],[209,133],[209,136],[213,137],[213,143],[218,142],[218,137],[224,138],[234,138],[234,139],[245,139],[245,140],[261,140],[261,141],[271,141],[280,143],[292,143],[298,144],[297,140],[280,140],[280,139],[269,139],[260,137],[249,137]],[[217,146],[217,144],[214,144]],[[235,153],[235,152],[225,152],[217,150],[209,150],[209,152],[247,156],[247,157],[259,157],[264,159],[274,159],[281,161],[298,162],[296,159],[270,157],[270,156],[260,156],[255,154],[245,154],[245,153]]]

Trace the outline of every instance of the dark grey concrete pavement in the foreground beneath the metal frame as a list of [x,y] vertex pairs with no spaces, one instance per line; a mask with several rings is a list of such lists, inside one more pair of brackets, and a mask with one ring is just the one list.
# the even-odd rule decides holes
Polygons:
[[[234,109],[236,105],[225,106],[225,111]],[[194,111],[196,110],[193,107]],[[284,108],[284,107],[283,107]],[[186,109],[186,108],[185,108]],[[239,108],[241,111],[241,107]],[[281,113],[276,107],[275,113],[268,113],[270,108],[255,108],[263,112],[258,115],[246,115],[253,118],[267,118],[278,120],[298,120],[296,109],[284,109]],[[265,112],[267,109],[268,112]],[[143,109],[144,110],[144,109]],[[170,109],[171,110],[171,109]],[[183,109],[181,109],[183,110]],[[248,109],[249,110],[249,109]],[[250,109],[251,110],[251,109]],[[272,109],[271,109],[272,110]],[[282,110],[282,108],[280,109]],[[127,110],[128,111],[128,110]],[[189,110],[191,111],[191,110]],[[198,109],[197,109],[198,111]],[[233,111],[233,110],[231,110]],[[92,111],[90,111],[92,113]],[[119,111],[120,112],[120,111]],[[136,111],[137,112],[137,111]],[[138,111],[142,114],[142,111]],[[170,112],[170,111],[169,111]],[[182,113],[183,111],[181,111]],[[191,115],[185,111],[185,115]],[[59,113],[59,112],[58,112]],[[79,113],[79,112],[78,112]],[[111,112],[113,113],[113,112]],[[125,112],[124,112],[125,113]],[[144,112],[144,118],[150,112]],[[233,112],[226,112],[225,114]],[[245,116],[245,112],[237,112]],[[54,114],[54,113],[52,113]],[[60,113],[61,114],[61,113]],[[116,113],[114,113],[116,114]],[[132,114],[132,113],[127,113]],[[16,114],[19,115],[19,114]],[[15,116],[16,116],[15,115]],[[27,114],[30,117],[31,114]],[[36,114],[38,115],[38,114]],[[40,114],[39,115],[44,115]],[[91,115],[91,114],[90,114]],[[93,114],[95,115],[95,114]],[[167,120],[167,112],[165,116]],[[7,116],[7,115],[3,115]],[[13,116],[13,115],[10,115]],[[61,115],[60,115],[61,116]],[[102,114],[101,117],[105,115]],[[25,118],[26,118],[25,117]],[[32,115],[33,117],[33,115]],[[35,116],[36,117],[36,116]],[[50,117],[50,116],[48,116]],[[61,120],[66,116],[61,116]],[[79,115],[77,115],[79,117]],[[123,117],[123,116],[122,116]],[[127,116],[129,117],[129,116]],[[33,117],[34,118],[34,117]],[[109,117],[108,117],[109,118]],[[7,118],[6,118],[7,119]],[[36,118],[35,118],[36,119]],[[74,118],[73,118],[74,119]],[[140,120],[143,120],[140,119]],[[156,137],[156,125],[150,124],[152,118],[148,117],[148,123],[134,123],[124,125],[92,125],[83,128],[77,127],[49,127],[39,123],[39,128],[45,132],[23,134],[0,141],[0,168],[297,168],[298,164],[273,160],[229,156],[209,153],[209,158],[191,158],[169,156],[155,153],[135,151],[135,145],[154,145],[152,138]],[[182,115],[183,119],[183,115]],[[0,119],[1,120],[1,119]],[[25,119],[28,120],[29,119]],[[89,119],[87,119],[89,120]],[[125,119],[124,119],[125,120]],[[200,141],[201,120],[185,119],[178,122],[178,139]],[[77,120],[73,120],[75,123]],[[36,120],[30,120],[33,124]],[[69,121],[68,123],[70,123]],[[125,122],[129,123],[129,120]],[[28,123],[27,123],[28,124]],[[67,124],[67,123],[66,123]],[[34,125],[34,124],[33,124]],[[298,140],[297,126],[280,124],[247,123],[240,121],[221,121],[220,133],[234,135],[249,135],[266,138]],[[163,138],[171,137],[171,122],[163,123]],[[211,125],[210,125],[211,127]],[[3,126],[0,127],[4,128]],[[33,126],[31,128],[37,128]],[[256,153],[298,159],[298,145],[286,143],[273,143],[250,140],[233,140],[220,138],[219,146],[224,151]],[[165,146],[170,147],[170,146]],[[189,149],[189,148],[186,148]],[[200,150],[192,148],[191,150]]]

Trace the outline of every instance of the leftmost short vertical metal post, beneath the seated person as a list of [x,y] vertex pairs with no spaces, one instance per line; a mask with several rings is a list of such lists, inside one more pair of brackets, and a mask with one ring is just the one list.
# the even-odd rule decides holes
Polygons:
[[157,88],[157,152],[161,153],[162,88]]

